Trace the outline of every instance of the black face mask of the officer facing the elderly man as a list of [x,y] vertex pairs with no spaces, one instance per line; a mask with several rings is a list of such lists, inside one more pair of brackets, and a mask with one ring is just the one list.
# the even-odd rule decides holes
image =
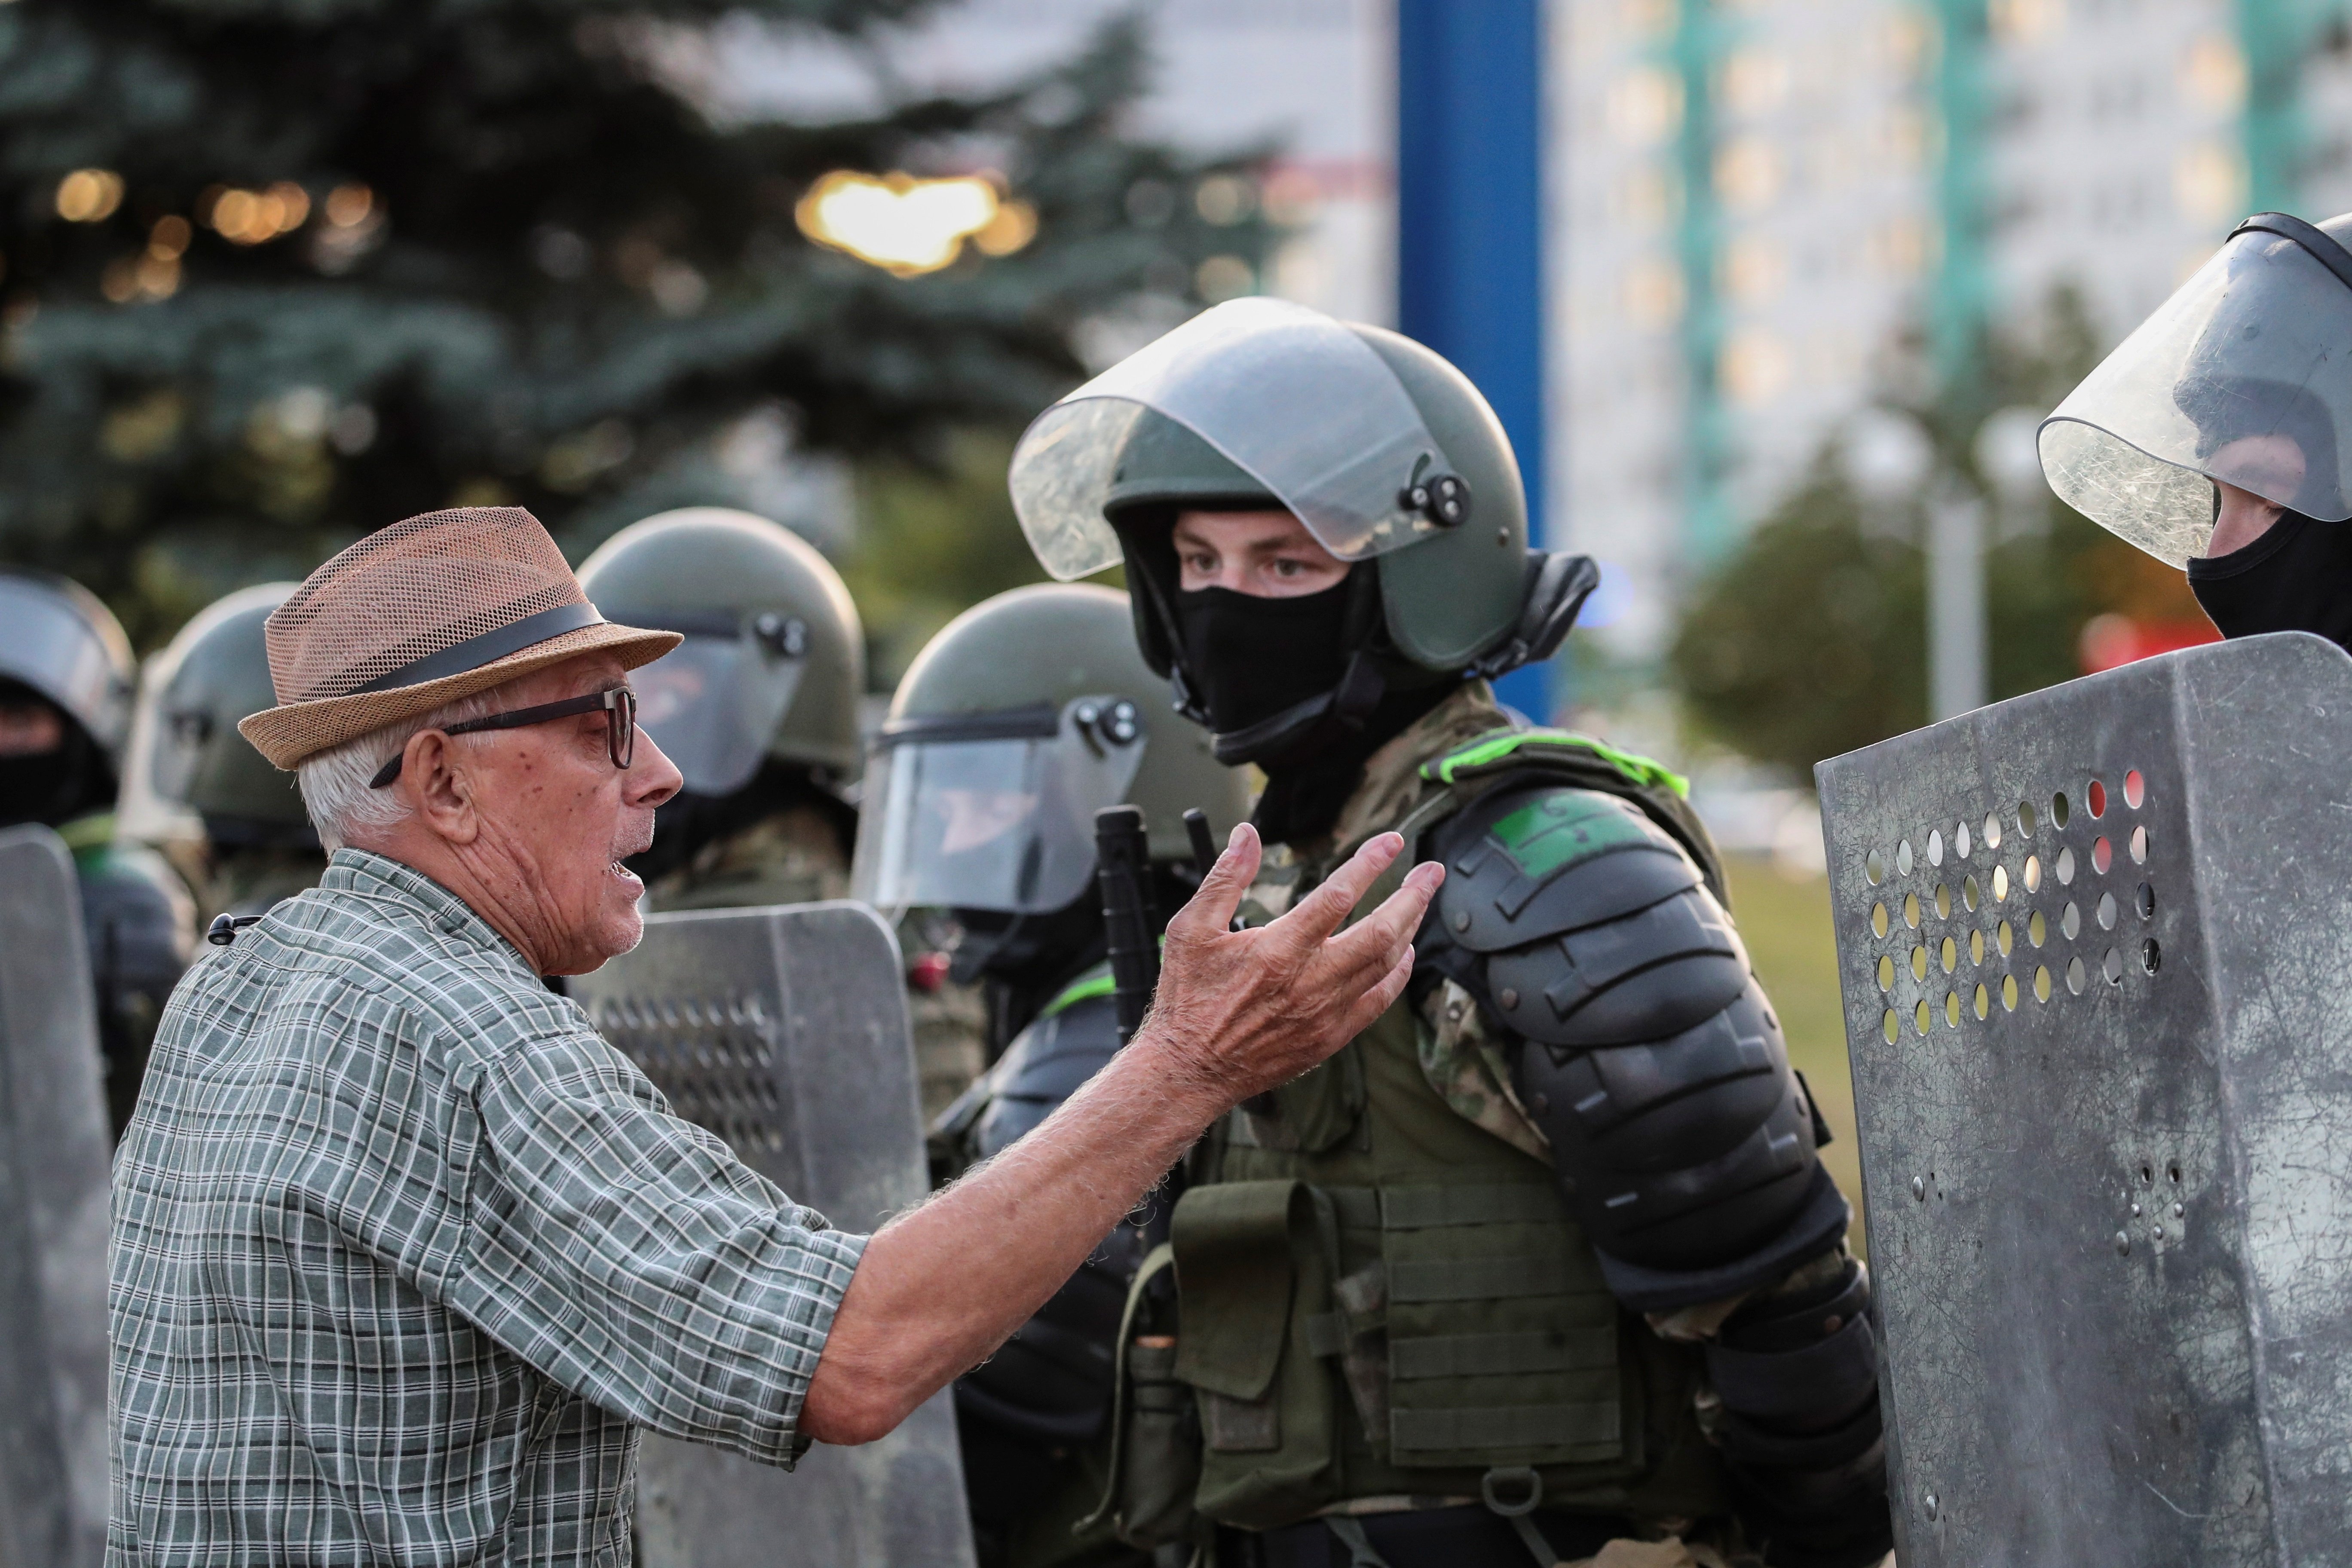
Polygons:
[[1296,599],[1178,590],[1183,668],[1209,729],[1240,733],[1336,689],[1348,672],[1348,581]]

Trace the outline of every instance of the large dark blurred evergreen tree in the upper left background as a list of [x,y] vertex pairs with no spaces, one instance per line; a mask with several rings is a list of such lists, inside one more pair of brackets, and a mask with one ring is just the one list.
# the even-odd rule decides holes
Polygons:
[[[1016,428],[1084,374],[1073,334],[1138,301],[1247,287],[1275,230],[1185,200],[1240,160],[1122,132],[1134,16],[1002,92],[823,125],[729,118],[680,68],[720,16],[880,56],[927,9],[0,7],[0,557],[153,644],[435,505],[522,503],[588,545],[741,503],[746,421],[962,496],[957,430]],[[988,172],[1004,221],[891,275],[795,223],[835,169]]]

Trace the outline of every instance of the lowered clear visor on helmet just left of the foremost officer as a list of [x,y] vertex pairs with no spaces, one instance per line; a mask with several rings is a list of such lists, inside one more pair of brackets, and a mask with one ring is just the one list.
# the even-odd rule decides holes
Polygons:
[[884,731],[849,891],[882,910],[1058,910],[1094,882],[1094,813],[1141,764],[1134,705],[1110,696]]

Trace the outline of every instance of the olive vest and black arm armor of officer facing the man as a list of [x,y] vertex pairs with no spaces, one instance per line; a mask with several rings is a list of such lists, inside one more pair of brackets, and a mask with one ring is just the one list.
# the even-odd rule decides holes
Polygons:
[[[1383,827],[1406,835],[1409,856],[1444,856],[1456,893],[1432,905],[1406,999],[1237,1110],[1176,1208],[1178,1305],[1143,1319],[1174,1326],[1169,1373],[1197,1396],[1192,1502],[1249,1530],[1331,1509],[1484,1507],[1522,1521],[1538,1561],[1576,1535],[1569,1519],[1538,1528],[1543,1512],[1623,1533],[1722,1526],[1743,1472],[1700,1429],[1700,1392],[1712,1382],[1731,1406],[1724,1385],[1745,1389],[1750,1371],[1769,1392],[1733,1425],[1762,1446],[1790,1422],[1828,1427],[1828,1502],[1860,1495],[1867,1516],[1870,1476],[1846,1474],[1877,1462],[1867,1338],[1867,1408],[1853,1403],[1851,1354],[1832,1352],[1849,1373],[1835,1410],[1783,1375],[1795,1349],[1818,1375],[1828,1316],[1813,1295],[1785,1295],[1792,1276],[1832,1284],[1849,1316],[1867,1284],[1842,1253],[1844,1199],[1813,1159],[1809,1095],[1715,893],[1712,844],[1665,769],[1501,724],[1482,689],[1432,710],[1390,743],[1409,783],[1383,783],[1395,755],[1376,757],[1329,849],[1270,851],[1244,903],[1251,924],[1282,914]],[[1477,853],[1515,813],[1562,825],[1564,842],[1529,853],[1522,835],[1522,863],[1501,877]],[[1637,961],[1611,969],[1604,954]],[[1642,983],[1658,973],[1672,983]],[[1557,1009],[1578,985],[1583,1004]],[[1524,992],[1517,1009],[1505,990]],[[1529,999],[1550,1023],[1515,1023]],[[1630,1133],[1592,1131],[1595,1093]],[[1637,1201],[1611,1206],[1621,1192]],[[1646,1234],[1623,1218],[1642,1204],[1665,1213]],[[1712,1324],[1729,1319],[1722,1338],[1736,1328],[1748,1349],[1733,1354],[1750,1361],[1639,1316],[1696,1302],[1715,1302]],[[1757,1328],[1778,1316],[1792,1326]],[[1138,1406],[1148,1338],[1127,1340]],[[1804,1556],[1783,1542],[1771,1561],[1867,1561],[1844,1547]]]

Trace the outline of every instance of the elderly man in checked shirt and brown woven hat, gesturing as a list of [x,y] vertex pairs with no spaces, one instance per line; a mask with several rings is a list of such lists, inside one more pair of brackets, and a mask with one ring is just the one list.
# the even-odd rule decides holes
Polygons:
[[1397,853],[1228,931],[1235,832],[1136,1041],[1007,1157],[844,1237],[541,976],[640,936],[677,769],[520,510],[414,517],[270,616],[245,722],[334,860],[179,987],[115,1164],[113,1563],[621,1563],[637,1429],[788,1462],[981,1361],[1197,1133],[1402,990]]

